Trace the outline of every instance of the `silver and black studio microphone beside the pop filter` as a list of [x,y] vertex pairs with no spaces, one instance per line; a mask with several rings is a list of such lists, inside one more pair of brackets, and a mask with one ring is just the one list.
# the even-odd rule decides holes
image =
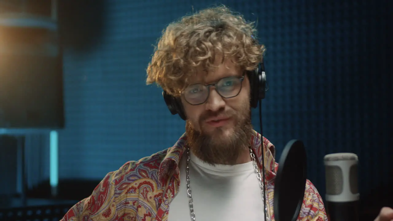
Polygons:
[[329,221],[359,221],[358,156],[332,153],[323,162]]

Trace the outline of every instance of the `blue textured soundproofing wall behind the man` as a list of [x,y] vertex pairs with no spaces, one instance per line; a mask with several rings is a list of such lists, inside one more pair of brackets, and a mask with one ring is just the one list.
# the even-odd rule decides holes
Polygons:
[[[388,44],[388,7],[380,6],[391,3],[367,0],[107,1],[102,33],[91,37],[94,47],[65,51],[59,178],[100,180],[129,160],[172,146],[184,133],[160,88],[145,85],[145,68],[169,22],[214,3],[258,20],[270,87],[263,132],[277,157],[289,140],[303,140],[309,179],[322,195],[328,153],[359,155],[366,194],[391,182],[391,74],[382,47]],[[259,131],[257,110],[252,119]]]

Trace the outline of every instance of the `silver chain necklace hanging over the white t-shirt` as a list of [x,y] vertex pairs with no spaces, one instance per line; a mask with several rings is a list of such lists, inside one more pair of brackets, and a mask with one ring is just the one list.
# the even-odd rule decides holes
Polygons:
[[[261,173],[259,172],[259,167],[257,164],[257,160],[255,158],[254,153],[252,152],[251,147],[250,149],[250,156],[253,162],[253,166],[254,166],[254,170],[255,173],[257,174],[257,179],[259,181],[259,187],[261,188],[261,195],[262,195],[262,199],[265,199],[264,194],[265,194],[265,188],[264,188],[264,183],[261,177]],[[195,213],[194,213],[194,201],[193,201],[193,197],[191,197],[191,188],[190,188],[190,167],[189,167],[189,162],[190,162],[190,149],[189,147],[187,147],[187,161],[186,161],[186,167],[185,167],[185,175],[186,175],[186,184],[187,184],[187,195],[188,195],[188,204],[190,206],[190,214],[191,214],[191,221],[195,221]],[[265,209],[265,221],[269,221],[269,217],[268,217],[268,210],[266,207],[266,202],[263,202],[264,205],[264,209]]]

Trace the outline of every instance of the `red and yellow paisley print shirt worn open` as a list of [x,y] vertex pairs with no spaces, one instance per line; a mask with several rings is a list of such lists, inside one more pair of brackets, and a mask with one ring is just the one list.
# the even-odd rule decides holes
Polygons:
[[[167,221],[169,204],[180,186],[178,163],[186,141],[184,134],[173,147],[139,161],[127,162],[117,171],[108,173],[92,195],[75,204],[62,221]],[[256,131],[253,131],[251,146],[260,167],[262,151],[265,153],[266,203],[274,221],[274,179],[278,169],[274,160],[275,147],[266,138],[261,139]],[[298,221],[306,220],[327,221],[321,196],[309,180],[298,217]]]

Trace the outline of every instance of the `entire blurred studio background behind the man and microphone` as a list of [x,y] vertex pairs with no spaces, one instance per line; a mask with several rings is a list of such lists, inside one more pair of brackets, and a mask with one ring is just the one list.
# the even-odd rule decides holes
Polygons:
[[356,153],[362,220],[392,207],[392,1],[0,0],[0,220],[59,220],[108,172],[174,145],[185,123],[145,69],[170,22],[217,4],[257,21],[277,160],[303,140],[324,199],[323,157]]

